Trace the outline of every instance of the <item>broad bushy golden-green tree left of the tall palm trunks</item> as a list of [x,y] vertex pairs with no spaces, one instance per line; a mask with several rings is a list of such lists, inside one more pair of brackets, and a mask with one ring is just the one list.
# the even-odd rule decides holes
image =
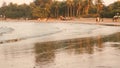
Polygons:
[[39,12],[37,17],[48,17],[48,16],[50,16],[52,0],[35,0],[34,3],[37,6],[37,8],[34,9],[35,10],[34,12],[35,13],[36,13],[36,11]]

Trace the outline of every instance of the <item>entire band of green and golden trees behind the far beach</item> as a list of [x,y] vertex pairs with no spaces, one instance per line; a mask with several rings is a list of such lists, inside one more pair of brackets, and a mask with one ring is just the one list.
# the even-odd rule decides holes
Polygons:
[[0,7],[0,17],[6,18],[59,18],[64,17],[113,17],[120,13],[120,1],[105,6],[102,0],[34,0],[27,5],[17,5],[3,3]]

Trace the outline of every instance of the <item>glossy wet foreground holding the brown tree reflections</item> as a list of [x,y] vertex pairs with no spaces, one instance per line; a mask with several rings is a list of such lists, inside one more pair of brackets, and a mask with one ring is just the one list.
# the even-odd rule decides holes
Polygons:
[[0,45],[0,54],[1,68],[120,68],[120,33]]

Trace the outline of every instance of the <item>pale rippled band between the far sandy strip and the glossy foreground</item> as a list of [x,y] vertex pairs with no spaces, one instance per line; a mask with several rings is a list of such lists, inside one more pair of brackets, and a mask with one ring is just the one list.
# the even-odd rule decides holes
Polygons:
[[[93,19],[92,19],[93,20]],[[35,23],[37,22],[37,23]],[[99,24],[100,23],[100,24]],[[103,22],[83,22],[83,21],[1,21],[1,43],[9,41],[19,41],[24,39],[39,38],[44,41],[55,41],[81,37],[95,37],[100,35],[109,35],[118,32],[119,23]],[[108,25],[108,26],[105,26]],[[109,26],[110,25],[110,26]],[[113,27],[112,27],[113,26]],[[21,28],[22,27],[22,28]],[[11,31],[12,30],[12,31]],[[6,32],[5,32],[6,31]],[[97,32],[99,31],[99,32]],[[107,31],[107,32],[106,32]],[[50,36],[49,36],[50,35]],[[45,40],[44,39],[45,36]],[[54,39],[49,40],[51,36]],[[41,38],[43,37],[43,38]]]

